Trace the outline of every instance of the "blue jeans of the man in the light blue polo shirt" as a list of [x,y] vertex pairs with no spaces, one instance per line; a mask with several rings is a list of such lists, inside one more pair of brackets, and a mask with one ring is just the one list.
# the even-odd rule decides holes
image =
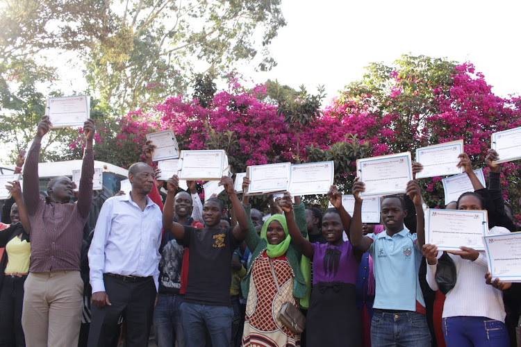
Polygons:
[[371,321],[372,347],[430,347],[431,334],[427,319],[417,312],[373,311]]

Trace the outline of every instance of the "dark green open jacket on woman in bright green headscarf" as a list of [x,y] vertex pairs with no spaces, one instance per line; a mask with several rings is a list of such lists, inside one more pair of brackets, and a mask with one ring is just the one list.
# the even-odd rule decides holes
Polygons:
[[[242,278],[240,281],[240,286],[242,288],[242,296],[247,298],[249,291],[249,280],[251,278],[251,269],[253,269],[257,257],[266,250],[267,241],[265,239],[261,239],[261,237],[259,237],[255,231],[254,223],[251,222],[251,218],[249,217],[251,205],[245,206],[245,210],[249,218],[249,230],[246,234],[245,241],[249,251],[251,252],[251,262],[249,262],[246,277]],[[293,208],[293,213],[295,214],[295,222],[297,223],[302,236],[306,237],[308,235],[308,223],[306,221],[306,209],[304,208],[304,203],[295,205]],[[302,253],[297,249],[292,241],[288,247],[288,251],[286,251],[286,259],[290,263],[291,269],[293,271],[293,296],[295,296],[295,298],[304,298],[304,296],[306,296],[307,290],[306,282],[304,282],[304,276],[302,276],[302,271],[300,271],[301,257]]]

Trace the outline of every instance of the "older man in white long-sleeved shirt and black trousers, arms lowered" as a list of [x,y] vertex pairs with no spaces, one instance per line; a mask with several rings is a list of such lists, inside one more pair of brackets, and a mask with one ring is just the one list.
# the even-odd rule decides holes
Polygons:
[[92,321],[88,346],[106,346],[126,324],[126,346],[147,346],[158,288],[162,214],[147,196],[154,170],[138,162],[129,169],[132,190],[101,208],[88,253]]

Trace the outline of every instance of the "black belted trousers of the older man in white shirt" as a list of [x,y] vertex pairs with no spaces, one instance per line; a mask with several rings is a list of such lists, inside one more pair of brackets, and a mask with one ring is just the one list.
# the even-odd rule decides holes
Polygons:
[[119,316],[123,316],[126,327],[125,346],[148,346],[156,301],[154,280],[131,283],[105,274],[104,283],[111,305],[102,308],[92,305],[88,347],[112,346],[119,334]]

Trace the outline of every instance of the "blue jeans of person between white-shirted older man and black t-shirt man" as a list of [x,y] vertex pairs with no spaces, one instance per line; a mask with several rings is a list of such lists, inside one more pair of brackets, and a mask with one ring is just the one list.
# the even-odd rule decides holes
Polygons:
[[183,322],[181,321],[182,295],[158,294],[154,309],[154,332],[158,347],[185,347]]

